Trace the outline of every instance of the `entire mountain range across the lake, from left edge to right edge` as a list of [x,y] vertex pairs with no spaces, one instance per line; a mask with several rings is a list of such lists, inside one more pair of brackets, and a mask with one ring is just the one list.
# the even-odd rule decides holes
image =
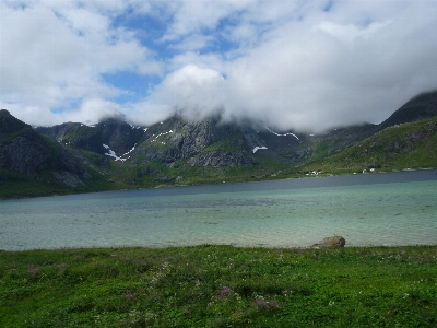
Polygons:
[[[437,166],[433,157],[436,116],[437,92],[412,98],[380,125],[316,136],[273,131],[259,122],[223,124],[218,117],[190,121],[177,115],[150,127],[109,118],[93,126],[66,122],[32,128],[2,109],[0,184],[20,195],[20,183],[14,180],[21,177],[28,178],[29,185],[35,181],[35,188],[45,186],[46,194],[247,180],[315,167],[414,166],[417,161],[410,153]],[[328,162],[331,166],[323,164]],[[0,190],[2,195],[8,196],[8,190]]]

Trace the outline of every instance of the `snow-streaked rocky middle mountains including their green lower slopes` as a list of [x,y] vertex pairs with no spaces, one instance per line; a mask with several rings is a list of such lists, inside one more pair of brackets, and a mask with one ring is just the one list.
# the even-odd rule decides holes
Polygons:
[[147,128],[115,119],[35,128],[126,188],[247,180],[288,167],[276,148],[294,147],[298,138],[258,129],[218,117],[190,121],[179,116]]

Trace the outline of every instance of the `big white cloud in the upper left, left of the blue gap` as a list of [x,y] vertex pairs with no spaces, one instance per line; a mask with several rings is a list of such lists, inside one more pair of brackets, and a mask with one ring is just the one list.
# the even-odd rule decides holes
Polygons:
[[[49,113],[50,108],[68,109],[71,102],[121,94],[122,90],[105,83],[103,73],[157,74],[162,70],[132,33],[109,28],[108,17],[81,9],[75,1],[0,5],[1,101],[19,104],[12,106],[16,116],[23,116],[20,110],[25,113],[25,108]],[[42,115],[27,120],[45,124],[42,118],[47,119]]]

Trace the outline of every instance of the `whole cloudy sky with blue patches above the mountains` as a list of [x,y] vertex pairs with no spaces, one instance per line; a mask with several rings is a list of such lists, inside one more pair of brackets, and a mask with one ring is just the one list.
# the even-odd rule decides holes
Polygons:
[[0,0],[0,107],[34,126],[378,124],[437,90],[436,0]]

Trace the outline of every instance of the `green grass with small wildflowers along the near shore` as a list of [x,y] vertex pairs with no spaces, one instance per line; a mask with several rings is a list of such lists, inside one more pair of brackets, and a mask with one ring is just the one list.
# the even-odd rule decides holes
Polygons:
[[436,327],[437,246],[0,251],[0,327]]

